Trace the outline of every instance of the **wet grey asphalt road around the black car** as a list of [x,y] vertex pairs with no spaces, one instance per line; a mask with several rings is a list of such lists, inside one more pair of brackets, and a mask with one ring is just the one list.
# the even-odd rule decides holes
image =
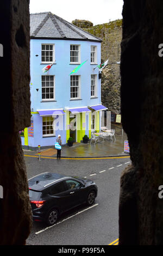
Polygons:
[[49,227],[34,222],[29,245],[108,245],[118,238],[120,176],[129,158],[107,160],[55,160],[25,157],[28,179],[43,172],[84,176],[98,186],[93,207],[80,206]]

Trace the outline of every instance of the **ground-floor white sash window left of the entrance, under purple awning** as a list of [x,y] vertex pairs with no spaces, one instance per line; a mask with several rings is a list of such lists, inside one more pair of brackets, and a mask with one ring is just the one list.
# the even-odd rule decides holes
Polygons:
[[55,135],[54,119],[52,117],[42,117],[42,135],[43,137]]

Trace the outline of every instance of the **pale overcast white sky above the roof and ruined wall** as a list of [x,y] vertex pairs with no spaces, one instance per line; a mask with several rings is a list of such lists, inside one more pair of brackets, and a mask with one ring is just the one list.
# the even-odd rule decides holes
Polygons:
[[30,13],[51,13],[72,22],[88,20],[93,26],[122,19],[123,0],[30,0]]

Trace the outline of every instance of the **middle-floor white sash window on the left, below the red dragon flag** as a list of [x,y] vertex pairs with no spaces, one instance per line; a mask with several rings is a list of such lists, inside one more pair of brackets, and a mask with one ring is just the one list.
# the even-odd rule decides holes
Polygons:
[[54,76],[42,76],[42,100],[54,100]]

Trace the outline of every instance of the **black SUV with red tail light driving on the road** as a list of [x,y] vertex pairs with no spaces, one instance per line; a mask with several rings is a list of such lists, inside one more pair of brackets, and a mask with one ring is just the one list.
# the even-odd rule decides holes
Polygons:
[[33,220],[48,225],[55,224],[62,212],[84,203],[92,205],[98,190],[91,180],[56,173],[36,175],[28,184]]

